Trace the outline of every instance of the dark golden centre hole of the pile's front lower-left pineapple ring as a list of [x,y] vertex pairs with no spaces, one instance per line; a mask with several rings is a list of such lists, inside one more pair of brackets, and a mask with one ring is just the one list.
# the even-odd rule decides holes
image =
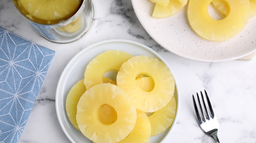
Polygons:
[[99,120],[103,124],[111,124],[117,120],[117,111],[109,104],[103,104],[99,108]]

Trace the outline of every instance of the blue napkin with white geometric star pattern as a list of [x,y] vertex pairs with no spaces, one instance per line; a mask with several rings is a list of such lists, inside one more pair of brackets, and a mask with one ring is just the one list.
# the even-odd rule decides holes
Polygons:
[[16,143],[55,51],[0,27],[0,143]]

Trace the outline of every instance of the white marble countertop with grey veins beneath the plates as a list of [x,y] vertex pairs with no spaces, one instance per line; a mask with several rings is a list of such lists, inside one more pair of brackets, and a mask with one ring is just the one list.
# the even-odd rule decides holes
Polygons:
[[145,44],[172,68],[180,89],[177,123],[164,143],[213,143],[198,126],[192,94],[206,89],[219,120],[219,139],[229,143],[256,142],[256,58],[251,61],[207,63],[189,60],[165,50],[143,29],[130,0],[93,1],[95,19],[89,32],[70,44],[55,44],[39,36],[14,8],[1,0],[0,26],[27,40],[56,51],[19,143],[70,142],[59,124],[55,92],[67,63],[79,51],[102,40],[125,39]]

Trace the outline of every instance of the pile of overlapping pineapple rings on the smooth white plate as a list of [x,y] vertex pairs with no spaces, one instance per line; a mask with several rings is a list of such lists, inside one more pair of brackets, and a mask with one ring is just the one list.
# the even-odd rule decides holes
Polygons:
[[[103,77],[117,72],[117,81]],[[174,77],[149,56],[106,51],[89,62],[66,99],[70,122],[95,143],[148,143],[176,113]]]

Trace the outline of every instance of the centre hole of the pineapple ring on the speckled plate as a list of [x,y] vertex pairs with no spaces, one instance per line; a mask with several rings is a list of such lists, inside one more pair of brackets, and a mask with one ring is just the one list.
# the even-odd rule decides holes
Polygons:
[[229,6],[223,0],[213,0],[208,6],[208,13],[214,20],[222,20],[229,13]]

